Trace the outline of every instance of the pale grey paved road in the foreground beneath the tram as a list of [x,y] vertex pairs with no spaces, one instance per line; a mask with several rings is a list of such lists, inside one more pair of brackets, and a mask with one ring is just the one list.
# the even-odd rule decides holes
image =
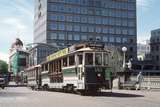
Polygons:
[[80,96],[16,87],[0,90],[0,107],[160,107],[160,91],[113,90]]

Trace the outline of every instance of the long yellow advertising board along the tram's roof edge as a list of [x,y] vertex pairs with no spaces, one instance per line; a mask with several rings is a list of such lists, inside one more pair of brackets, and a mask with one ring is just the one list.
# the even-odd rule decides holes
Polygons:
[[60,50],[60,51],[58,51],[56,53],[53,53],[53,54],[49,55],[47,57],[47,61],[51,61],[51,60],[60,58],[60,57],[62,57],[64,55],[67,55],[68,53],[69,53],[68,48],[62,49],[62,50]]

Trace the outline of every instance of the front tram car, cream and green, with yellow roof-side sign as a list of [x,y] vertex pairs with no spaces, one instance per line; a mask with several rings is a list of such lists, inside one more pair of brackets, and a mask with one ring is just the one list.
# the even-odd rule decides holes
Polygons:
[[41,63],[43,89],[98,91],[111,88],[111,52],[103,45],[76,44],[49,55]]

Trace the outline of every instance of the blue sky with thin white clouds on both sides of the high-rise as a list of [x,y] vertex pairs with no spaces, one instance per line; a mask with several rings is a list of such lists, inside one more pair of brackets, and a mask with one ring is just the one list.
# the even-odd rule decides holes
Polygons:
[[[160,28],[160,0],[137,0],[137,38],[144,42]],[[0,59],[8,61],[9,48],[18,37],[33,41],[34,0],[0,0]]]

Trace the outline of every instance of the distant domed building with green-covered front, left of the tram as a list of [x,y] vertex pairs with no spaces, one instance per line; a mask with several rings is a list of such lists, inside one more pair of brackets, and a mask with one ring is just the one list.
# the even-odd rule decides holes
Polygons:
[[23,49],[22,41],[17,38],[10,48],[9,72],[17,76],[24,71],[28,67],[28,55],[29,53]]

